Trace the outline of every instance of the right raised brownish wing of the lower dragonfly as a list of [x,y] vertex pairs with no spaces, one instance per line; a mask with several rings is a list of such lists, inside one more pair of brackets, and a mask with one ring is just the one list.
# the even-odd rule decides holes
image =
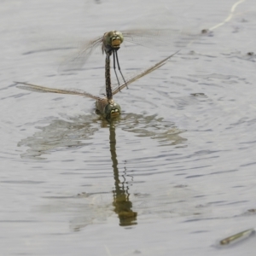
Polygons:
[[[177,52],[178,52],[178,51],[177,51]],[[173,55],[176,55],[177,52],[174,53]],[[121,84],[120,86],[116,86],[116,87],[113,89],[113,92],[112,92],[113,95],[117,94],[120,90],[123,90],[123,89],[126,87],[126,85],[129,85],[129,84],[133,83],[133,82],[136,81],[137,79],[140,79],[140,78],[142,78],[143,76],[147,75],[148,73],[151,73],[151,72],[153,72],[154,70],[156,70],[156,69],[162,67],[163,65],[165,65],[166,62],[167,62],[173,55],[170,55],[170,56],[166,57],[164,60],[157,62],[157,63],[156,63],[154,66],[152,66],[152,67],[149,67],[149,68],[147,68],[147,69],[145,69],[145,70],[143,70],[143,71],[140,71],[139,73],[137,73],[136,75],[134,75],[134,76],[131,77],[130,79],[126,80],[126,83]]]

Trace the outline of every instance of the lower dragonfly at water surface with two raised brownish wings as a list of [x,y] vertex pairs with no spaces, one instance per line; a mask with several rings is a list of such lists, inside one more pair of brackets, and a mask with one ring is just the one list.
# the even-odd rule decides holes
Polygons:
[[55,89],[55,88],[49,88],[44,87],[36,84],[28,84],[23,82],[15,82],[18,88],[25,89],[25,90],[32,90],[32,91],[38,91],[38,92],[51,92],[51,93],[58,93],[58,94],[68,94],[68,95],[78,95],[78,96],[84,96],[91,99],[96,100],[96,113],[101,114],[103,118],[105,119],[112,119],[121,113],[121,108],[119,103],[113,101],[113,95],[116,95],[120,90],[123,90],[127,84],[131,84],[137,79],[142,78],[143,76],[147,75],[148,73],[153,72],[154,70],[162,67],[166,64],[166,62],[173,56],[176,55],[176,53],[169,55],[165,59],[157,62],[152,67],[148,67],[147,69],[144,69],[143,71],[133,75],[130,79],[127,79],[123,84],[118,84],[115,86],[115,88],[112,90],[111,86],[111,80],[108,79],[106,82],[106,96],[94,96],[88,92],[85,92],[84,90],[62,90],[62,89]]

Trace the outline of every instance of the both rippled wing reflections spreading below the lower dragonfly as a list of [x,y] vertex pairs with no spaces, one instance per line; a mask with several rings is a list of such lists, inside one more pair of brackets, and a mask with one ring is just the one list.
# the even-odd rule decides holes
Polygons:
[[[26,137],[18,143],[18,147],[28,147],[21,158],[44,160],[42,154],[50,154],[57,150],[68,150],[90,145],[89,140],[100,127],[108,127],[106,120],[96,114],[79,115],[65,119],[45,120],[46,126],[37,126],[41,131],[32,137]],[[187,139],[180,137],[179,130],[172,122],[157,118],[156,115],[145,116],[136,113],[124,113],[115,120],[123,131],[135,133],[137,137],[150,137],[158,140],[160,146],[178,145]]]

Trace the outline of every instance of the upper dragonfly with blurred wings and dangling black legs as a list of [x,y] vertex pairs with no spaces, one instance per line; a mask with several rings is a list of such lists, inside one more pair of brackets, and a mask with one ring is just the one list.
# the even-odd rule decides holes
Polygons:
[[[106,81],[110,79],[110,58],[113,55],[113,71],[115,77],[119,83],[119,77],[116,72],[116,64],[119,69],[121,78],[125,82],[123,73],[121,72],[119,65],[118,50],[124,40],[130,42],[131,44],[137,44],[141,46],[150,47],[151,45],[170,45],[174,44],[175,47],[184,47],[195,39],[195,35],[184,35],[180,34],[175,30],[165,30],[165,29],[138,29],[130,31],[110,31],[105,32],[103,36],[95,38],[87,43],[85,43],[79,52],[71,57],[67,58],[66,61],[62,62],[61,69],[73,69],[73,67],[82,67],[84,63],[88,60],[90,55],[96,51],[96,49],[101,48],[102,54],[106,54],[105,59],[105,78]],[[126,86],[128,85],[125,83]]]

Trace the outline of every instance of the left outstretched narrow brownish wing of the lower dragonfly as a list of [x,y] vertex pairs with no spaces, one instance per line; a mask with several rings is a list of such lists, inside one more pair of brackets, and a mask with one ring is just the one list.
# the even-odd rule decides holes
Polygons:
[[69,94],[69,95],[79,95],[79,96],[85,96],[89,97],[94,100],[101,99],[98,96],[94,96],[90,93],[87,93],[83,90],[61,90],[61,89],[55,89],[55,88],[49,88],[44,87],[36,84],[28,84],[28,83],[22,83],[22,82],[15,82],[18,88],[24,89],[24,90],[32,90],[32,91],[38,91],[38,92],[51,92],[51,93],[59,93],[59,94]]

